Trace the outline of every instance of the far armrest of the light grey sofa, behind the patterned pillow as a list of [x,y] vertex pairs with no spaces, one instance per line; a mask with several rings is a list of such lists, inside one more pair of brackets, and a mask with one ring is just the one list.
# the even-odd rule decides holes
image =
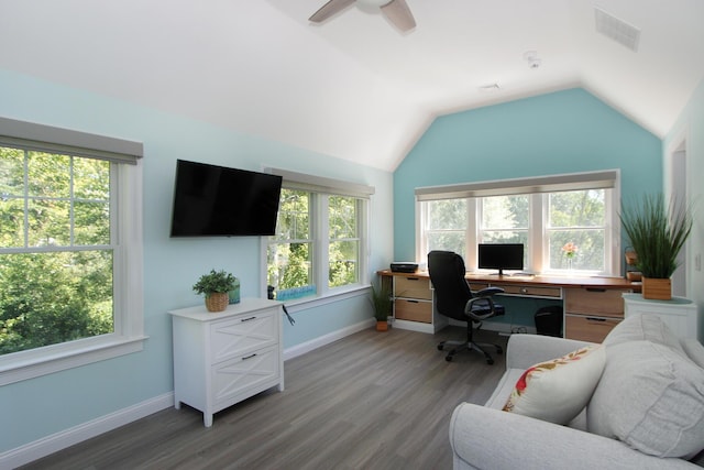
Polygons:
[[506,369],[525,370],[590,345],[593,343],[553,336],[512,335],[506,348]]

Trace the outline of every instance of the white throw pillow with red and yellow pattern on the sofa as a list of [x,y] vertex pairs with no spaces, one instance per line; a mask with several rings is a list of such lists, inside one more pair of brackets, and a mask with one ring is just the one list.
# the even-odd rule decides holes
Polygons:
[[504,411],[565,425],[586,406],[605,362],[604,347],[594,345],[536,364],[518,379]]

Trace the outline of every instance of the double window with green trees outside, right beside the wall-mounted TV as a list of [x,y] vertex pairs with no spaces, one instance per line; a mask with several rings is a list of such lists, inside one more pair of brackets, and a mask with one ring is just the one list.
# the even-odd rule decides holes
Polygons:
[[366,280],[366,217],[373,188],[270,170],[284,177],[267,284],[282,300],[324,296]]

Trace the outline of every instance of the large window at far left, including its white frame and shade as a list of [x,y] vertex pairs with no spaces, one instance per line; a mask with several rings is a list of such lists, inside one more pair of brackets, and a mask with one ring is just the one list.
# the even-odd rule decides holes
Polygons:
[[141,144],[1,121],[0,384],[139,350]]

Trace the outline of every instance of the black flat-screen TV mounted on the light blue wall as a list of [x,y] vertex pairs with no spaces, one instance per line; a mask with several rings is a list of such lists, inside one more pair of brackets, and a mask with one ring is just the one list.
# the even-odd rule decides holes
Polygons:
[[274,234],[280,190],[280,176],[178,160],[170,236]]

